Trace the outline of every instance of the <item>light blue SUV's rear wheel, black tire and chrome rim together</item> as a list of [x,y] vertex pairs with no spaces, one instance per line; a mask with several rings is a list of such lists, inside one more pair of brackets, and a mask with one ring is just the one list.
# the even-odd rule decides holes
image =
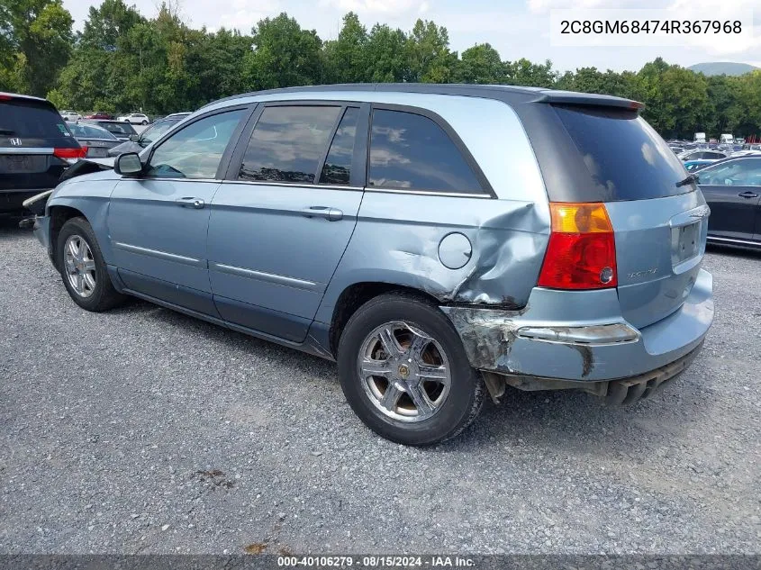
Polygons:
[[343,393],[385,439],[424,446],[454,438],[481,410],[484,383],[438,307],[385,294],[359,308],[339,343]]

